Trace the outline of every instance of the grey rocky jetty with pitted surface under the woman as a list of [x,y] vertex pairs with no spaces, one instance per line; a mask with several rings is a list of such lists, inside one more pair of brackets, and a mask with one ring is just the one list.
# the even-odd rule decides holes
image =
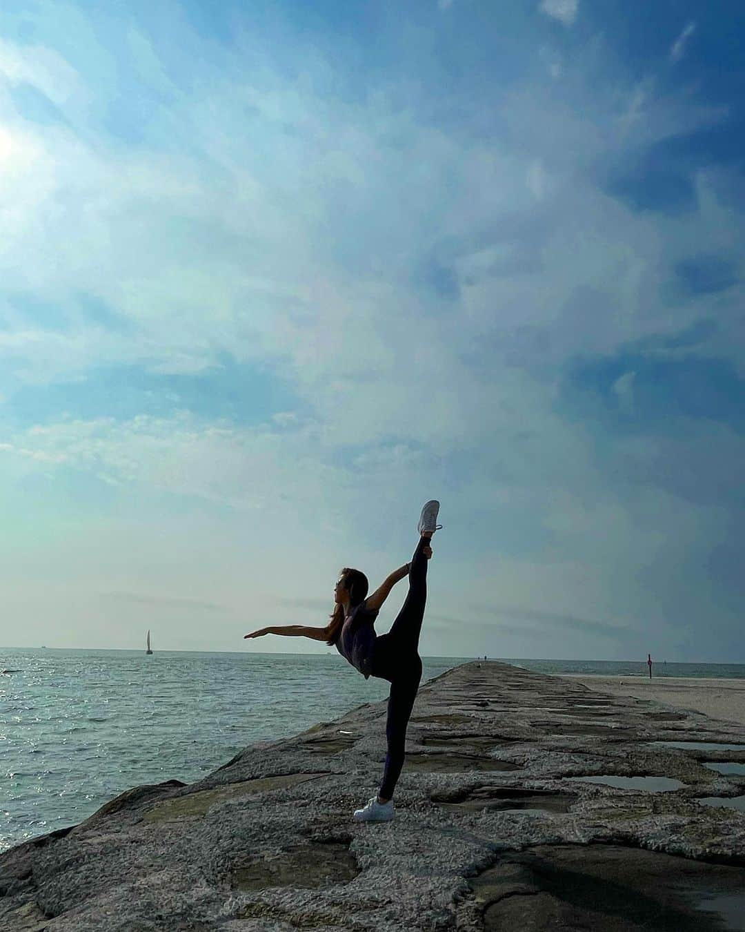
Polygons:
[[357,825],[385,716],[360,706],[7,851],[0,928],[745,929],[741,727],[458,666],[419,692],[395,821]]

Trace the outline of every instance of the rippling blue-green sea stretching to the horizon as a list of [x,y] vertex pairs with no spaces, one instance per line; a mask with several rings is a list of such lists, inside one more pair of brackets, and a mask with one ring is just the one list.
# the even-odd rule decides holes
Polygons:
[[[425,657],[424,678],[472,659]],[[505,662],[540,673],[646,674],[641,661]],[[655,674],[745,678],[745,665],[658,664]],[[331,653],[0,649],[0,851],[74,825],[125,789],[191,783],[247,745],[386,695],[386,682]]]

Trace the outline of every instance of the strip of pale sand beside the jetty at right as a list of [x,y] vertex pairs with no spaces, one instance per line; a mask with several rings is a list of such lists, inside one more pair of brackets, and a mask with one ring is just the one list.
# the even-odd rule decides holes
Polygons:
[[561,674],[597,692],[653,699],[676,708],[694,709],[711,719],[745,725],[745,679],[692,677],[605,677]]

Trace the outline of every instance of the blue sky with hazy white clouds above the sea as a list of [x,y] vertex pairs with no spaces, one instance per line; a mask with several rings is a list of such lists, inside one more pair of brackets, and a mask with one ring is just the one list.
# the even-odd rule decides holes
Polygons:
[[[745,663],[745,8],[0,8],[0,645]],[[401,582],[377,622],[406,594]]]

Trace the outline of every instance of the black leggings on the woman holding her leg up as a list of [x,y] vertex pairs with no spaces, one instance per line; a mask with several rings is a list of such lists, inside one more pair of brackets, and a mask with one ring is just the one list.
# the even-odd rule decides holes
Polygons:
[[386,720],[386,768],[379,790],[379,796],[384,800],[393,796],[403,767],[406,728],[422,678],[419,634],[427,602],[427,557],[423,551],[428,545],[429,538],[419,539],[409,568],[409,593],[406,601],[390,631],[375,641],[371,672],[373,677],[390,682]]

